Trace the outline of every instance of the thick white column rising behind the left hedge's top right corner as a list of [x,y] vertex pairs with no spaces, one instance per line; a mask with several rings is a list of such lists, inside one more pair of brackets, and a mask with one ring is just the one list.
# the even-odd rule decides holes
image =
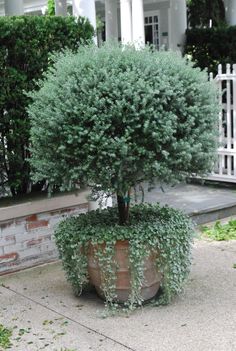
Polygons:
[[73,15],[87,17],[96,29],[95,0],[73,0]]

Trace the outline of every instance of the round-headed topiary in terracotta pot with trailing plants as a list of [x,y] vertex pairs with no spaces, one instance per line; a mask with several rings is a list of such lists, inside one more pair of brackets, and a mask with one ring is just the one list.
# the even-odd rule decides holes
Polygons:
[[191,223],[167,207],[131,206],[130,190],[212,169],[213,83],[178,54],[150,48],[87,46],[54,59],[30,94],[34,177],[64,190],[79,181],[117,198],[117,207],[59,225],[67,278],[77,293],[94,279],[109,306],[140,305],[159,286],[159,303],[167,303],[189,271]]

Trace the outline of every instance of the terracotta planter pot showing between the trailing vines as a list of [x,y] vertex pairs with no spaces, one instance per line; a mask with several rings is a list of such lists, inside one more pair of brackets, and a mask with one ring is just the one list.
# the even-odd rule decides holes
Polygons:
[[[100,246],[101,247],[101,246]],[[103,245],[105,247],[105,245]],[[98,245],[92,244],[88,250],[88,273],[90,282],[96,288],[98,295],[104,299],[104,294],[101,289],[101,270],[95,252]],[[115,244],[115,262],[118,266],[116,272],[116,294],[118,302],[125,302],[131,292],[129,258],[128,258],[129,242],[117,241]],[[161,274],[157,271],[155,266],[155,255],[151,254],[144,264],[144,283],[141,289],[141,295],[144,301],[153,298],[159,287],[161,281]]]

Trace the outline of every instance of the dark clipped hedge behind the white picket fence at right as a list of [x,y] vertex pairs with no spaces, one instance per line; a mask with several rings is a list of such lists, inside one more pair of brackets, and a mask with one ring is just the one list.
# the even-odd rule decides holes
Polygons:
[[187,30],[185,53],[213,73],[220,63],[236,63],[236,26]]

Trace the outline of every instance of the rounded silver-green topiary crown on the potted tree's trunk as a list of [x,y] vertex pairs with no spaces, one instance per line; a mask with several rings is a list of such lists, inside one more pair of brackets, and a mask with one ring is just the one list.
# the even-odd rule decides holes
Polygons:
[[39,87],[28,110],[37,180],[125,196],[144,179],[212,169],[216,91],[178,54],[81,47],[56,56]]

